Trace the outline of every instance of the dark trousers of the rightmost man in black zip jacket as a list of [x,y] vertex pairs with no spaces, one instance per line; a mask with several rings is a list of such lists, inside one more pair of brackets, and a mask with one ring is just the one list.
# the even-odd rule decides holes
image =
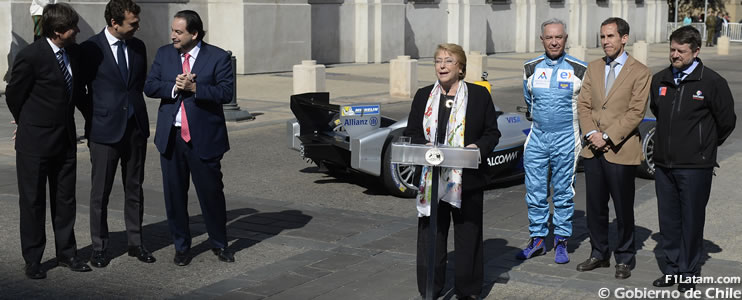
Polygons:
[[655,168],[660,246],[669,275],[699,275],[712,168]]

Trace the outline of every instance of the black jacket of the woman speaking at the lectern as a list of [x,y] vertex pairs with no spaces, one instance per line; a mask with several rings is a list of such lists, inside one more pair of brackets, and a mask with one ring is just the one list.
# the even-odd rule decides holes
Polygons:
[[[461,83],[464,83],[463,81]],[[466,83],[469,90],[469,98],[466,104],[466,128],[464,129],[464,146],[476,144],[479,147],[479,155],[482,162],[478,169],[464,169],[461,185],[464,191],[484,188],[487,184],[487,160],[485,159],[500,141],[500,130],[497,129],[497,114],[495,105],[492,103],[487,89],[472,83]],[[412,143],[425,144],[423,128],[423,114],[428,96],[433,90],[433,85],[417,90],[412,100],[410,116],[407,119],[405,136],[409,136]],[[437,99],[436,99],[437,101]]]

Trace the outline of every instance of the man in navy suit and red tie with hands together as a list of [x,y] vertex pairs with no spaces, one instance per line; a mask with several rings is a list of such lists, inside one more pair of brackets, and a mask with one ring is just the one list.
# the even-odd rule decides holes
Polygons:
[[173,43],[157,50],[144,85],[148,97],[160,98],[155,145],[160,152],[168,225],[176,265],[191,262],[188,185],[193,176],[212,251],[234,262],[227,249],[227,217],[221,159],[229,150],[222,104],[234,90],[230,55],[203,42],[203,22],[195,11],[175,14]]

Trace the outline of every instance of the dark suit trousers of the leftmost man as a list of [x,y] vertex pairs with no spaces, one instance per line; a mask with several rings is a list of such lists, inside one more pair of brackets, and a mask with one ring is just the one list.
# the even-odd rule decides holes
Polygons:
[[56,255],[71,258],[77,254],[74,231],[77,148],[66,145],[64,149],[56,155],[41,157],[16,152],[21,250],[26,263],[40,263],[44,255],[47,180]]

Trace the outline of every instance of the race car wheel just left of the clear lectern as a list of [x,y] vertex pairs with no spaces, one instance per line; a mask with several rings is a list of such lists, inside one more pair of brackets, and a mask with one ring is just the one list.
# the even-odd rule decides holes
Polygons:
[[393,136],[384,147],[384,161],[381,170],[381,182],[389,194],[402,198],[415,198],[417,187],[414,183],[415,170],[413,165],[400,165],[392,163],[392,142],[398,139]]

